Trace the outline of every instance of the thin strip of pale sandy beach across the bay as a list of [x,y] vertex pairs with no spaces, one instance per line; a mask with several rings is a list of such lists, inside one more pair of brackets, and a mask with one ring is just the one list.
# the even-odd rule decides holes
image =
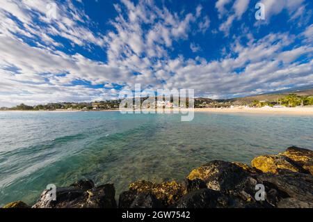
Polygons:
[[[73,113],[73,112],[113,112],[120,111],[118,109],[107,109],[107,110],[39,110],[39,111],[22,111],[22,110],[1,110],[0,112],[42,112],[42,113]],[[125,110],[127,111],[127,110]],[[151,111],[147,109],[142,109],[141,111]],[[168,111],[168,109],[163,109],[163,111]],[[190,109],[170,109],[170,113],[173,112],[186,112],[192,111]],[[271,108],[271,107],[262,107],[262,108],[250,108],[250,107],[234,107],[234,108],[195,108],[195,112],[210,112],[210,113],[251,113],[251,114],[291,114],[291,115],[305,115],[313,116],[313,107],[284,107],[284,108]],[[157,110],[156,110],[157,113]]]

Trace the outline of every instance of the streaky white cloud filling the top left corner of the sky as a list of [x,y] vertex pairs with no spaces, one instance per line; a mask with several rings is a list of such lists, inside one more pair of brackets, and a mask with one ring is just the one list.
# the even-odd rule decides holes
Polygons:
[[[67,0],[64,4],[55,4],[52,0],[32,1],[32,0],[3,0],[0,4],[0,32],[11,35],[19,33],[30,37],[38,37],[44,40],[47,45],[58,46],[52,39],[54,36],[61,36],[79,46],[88,46],[90,44],[104,46],[103,37],[95,35],[86,26],[80,26],[78,22],[88,24],[89,17],[81,10],[77,10],[71,1]],[[57,16],[55,19],[49,19],[49,7],[51,4],[56,6]],[[13,15],[22,26],[13,19]],[[38,27],[35,19],[39,17],[40,22],[45,25]],[[13,29],[12,29],[13,28]]]

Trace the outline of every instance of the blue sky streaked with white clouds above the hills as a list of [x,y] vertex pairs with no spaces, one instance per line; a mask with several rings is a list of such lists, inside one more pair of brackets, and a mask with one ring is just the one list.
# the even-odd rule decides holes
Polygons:
[[0,106],[109,100],[135,84],[211,98],[313,84],[312,4],[2,0]]

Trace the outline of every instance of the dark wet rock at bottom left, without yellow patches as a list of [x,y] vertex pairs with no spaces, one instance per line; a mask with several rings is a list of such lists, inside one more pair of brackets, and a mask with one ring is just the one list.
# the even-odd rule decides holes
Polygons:
[[[79,184],[77,182],[76,184]],[[56,200],[45,190],[33,208],[115,208],[115,189],[113,184],[104,184],[86,191],[86,186],[56,189]]]

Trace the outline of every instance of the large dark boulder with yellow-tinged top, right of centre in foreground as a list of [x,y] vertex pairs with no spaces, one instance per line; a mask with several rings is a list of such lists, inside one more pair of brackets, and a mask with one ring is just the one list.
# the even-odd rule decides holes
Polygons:
[[[263,183],[259,176],[263,173],[248,166],[225,161],[211,161],[194,169],[188,178],[200,178],[207,188],[220,191],[227,204],[218,207],[276,207],[282,198],[288,196],[274,184]],[[256,200],[257,184],[264,185],[266,200]]]

